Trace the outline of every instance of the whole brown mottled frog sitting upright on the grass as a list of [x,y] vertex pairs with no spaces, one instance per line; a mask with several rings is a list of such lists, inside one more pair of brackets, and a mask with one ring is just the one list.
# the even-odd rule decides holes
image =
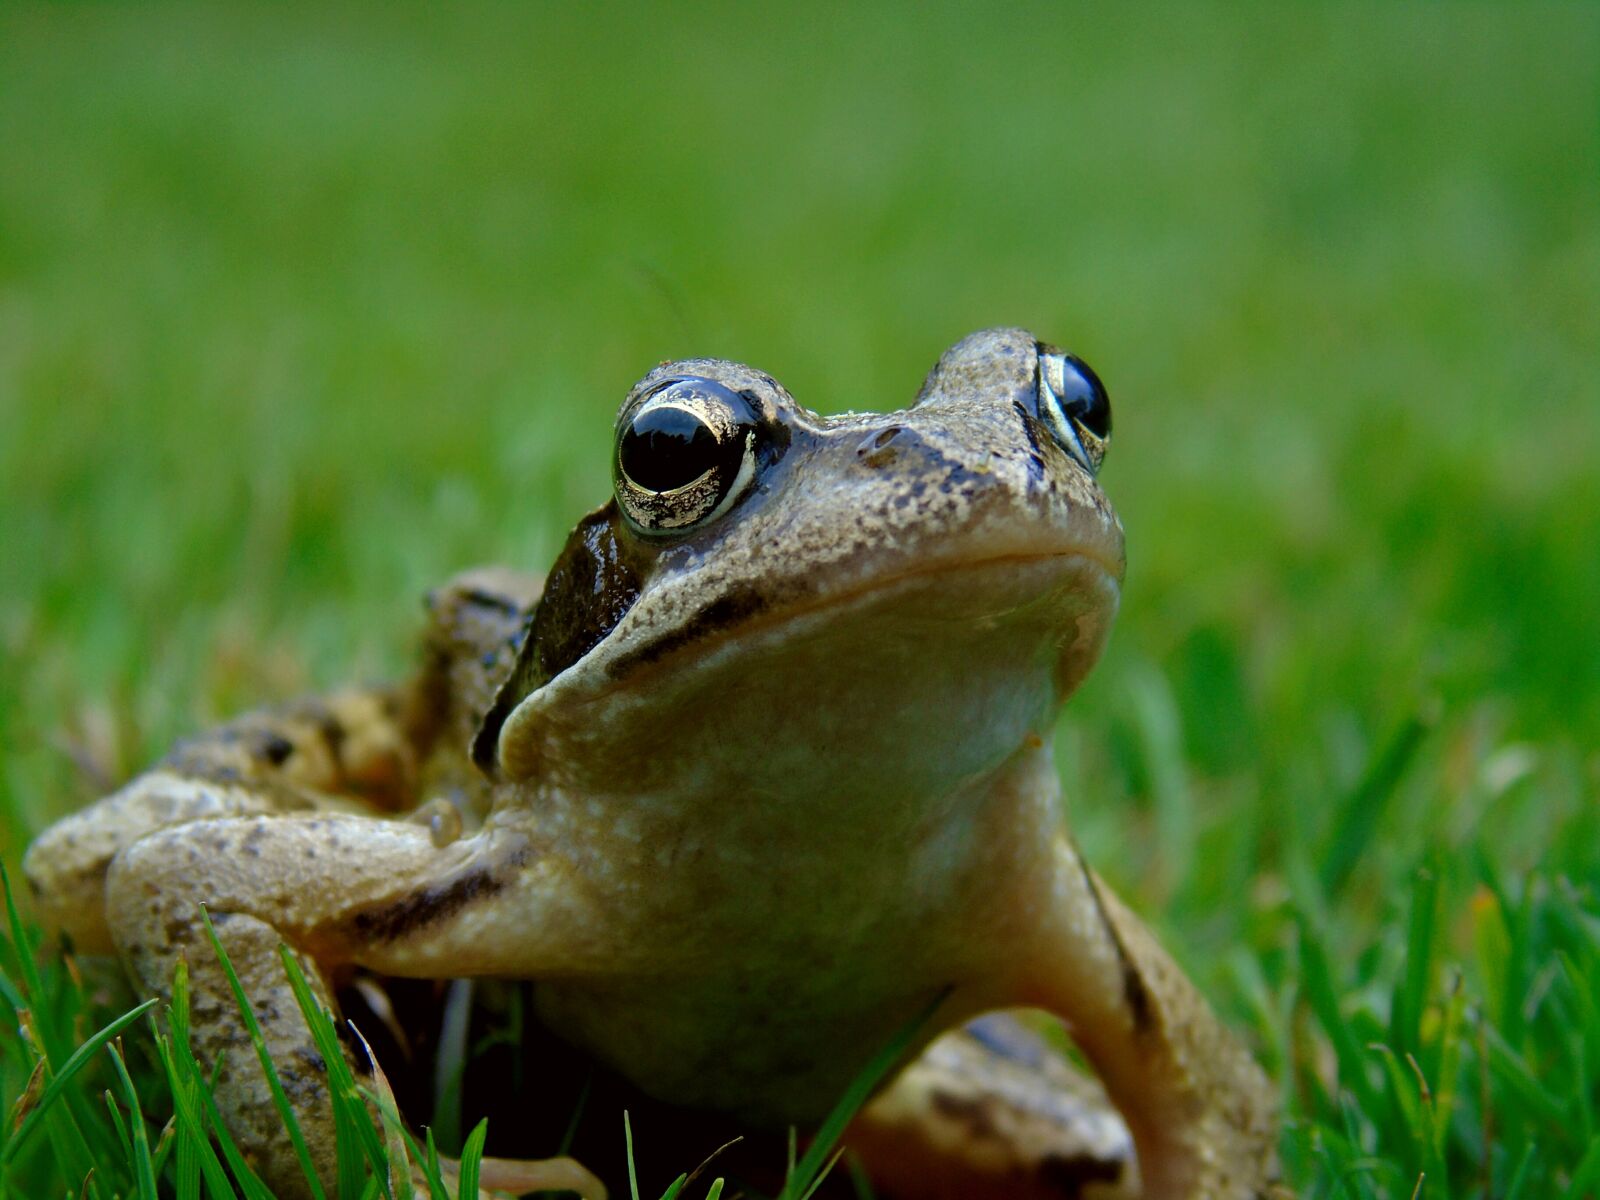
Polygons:
[[[1109,440],[1104,382],[1021,328],[885,413],[664,362],[542,579],[469,571],[411,680],[246,715],[66,816],[26,854],[37,910],[147,994],[187,965],[197,1056],[280,1195],[306,1182],[202,909],[326,1181],[280,947],[330,1011],[352,971],[531,981],[643,1093],[757,1126],[814,1130],[901,1037],[846,1134],[886,1194],[960,1168],[963,1195],[1077,1195],[1050,1182],[1077,1138],[1107,1194],[1272,1195],[1274,1086],[1088,866],[1053,758],[1122,595]],[[1086,1091],[1064,1062],[1021,1101],[963,1091],[1034,1054],[974,1024],[1019,1008]]]

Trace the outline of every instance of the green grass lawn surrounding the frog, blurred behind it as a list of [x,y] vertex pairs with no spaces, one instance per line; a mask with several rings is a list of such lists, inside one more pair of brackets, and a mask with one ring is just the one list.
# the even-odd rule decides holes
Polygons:
[[[0,10],[0,859],[549,562],[650,363],[882,408],[1024,323],[1130,534],[1074,827],[1291,1179],[1600,1192],[1600,10],[771,21]],[[0,958],[0,1184],[213,1187],[181,1038]]]

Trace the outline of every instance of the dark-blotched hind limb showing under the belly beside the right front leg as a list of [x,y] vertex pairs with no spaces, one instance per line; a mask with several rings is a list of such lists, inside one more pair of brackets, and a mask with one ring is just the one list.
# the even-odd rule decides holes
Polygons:
[[1094,1080],[1005,1013],[933,1042],[846,1134],[896,1200],[1131,1200],[1133,1138]]

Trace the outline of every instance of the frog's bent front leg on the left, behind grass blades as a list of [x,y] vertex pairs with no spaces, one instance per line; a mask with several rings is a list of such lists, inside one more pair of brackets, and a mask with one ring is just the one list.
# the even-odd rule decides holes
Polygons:
[[[387,974],[534,973],[563,965],[554,910],[558,867],[530,838],[486,829],[448,845],[418,824],[370,816],[200,821],[123,850],[107,877],[110,933],[154,994],[189,963],[192,1040],[203,1064],[226,1053],[218,1104],[278,1195],[306,1184],[200,920],[243,982],[322,1179],[334,1179],[326,1072],[290,990],[278,946],[320,1002],[347,966]],[[546,904],[541,898],[552,898]],[[354,1056],[352,1056],[354,1064]]]

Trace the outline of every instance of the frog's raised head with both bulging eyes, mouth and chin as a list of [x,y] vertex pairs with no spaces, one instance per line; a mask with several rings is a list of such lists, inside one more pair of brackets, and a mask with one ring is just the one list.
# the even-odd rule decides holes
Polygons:
[[1024,330],[958,342],[885,414],[819,418],[739,363],[658,366],[474,757],[746,795],[925,794],[995,766],[1106,642],[1109,434],[1093,371]]

